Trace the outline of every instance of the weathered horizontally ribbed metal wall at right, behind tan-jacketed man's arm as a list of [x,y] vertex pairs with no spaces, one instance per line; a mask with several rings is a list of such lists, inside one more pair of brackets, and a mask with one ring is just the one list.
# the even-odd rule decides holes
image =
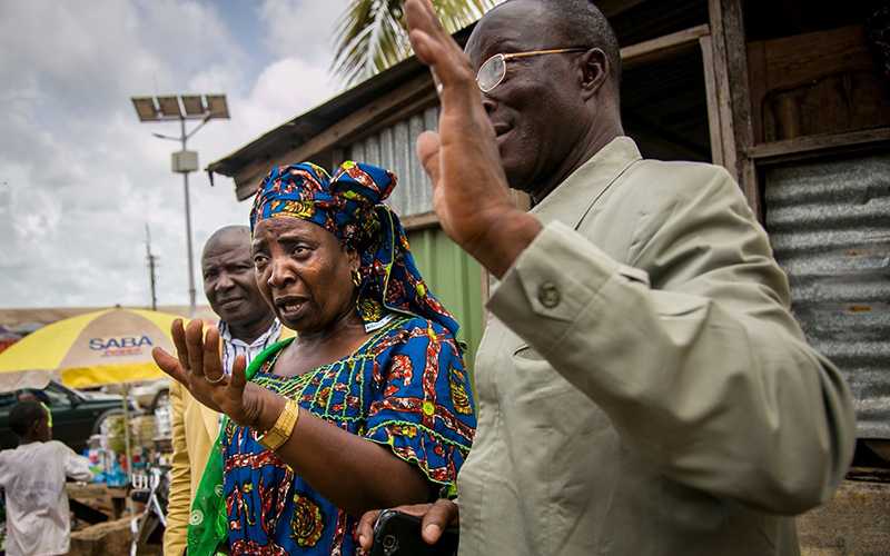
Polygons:
[[890,155],[765,172],[767,228],[810,342],[844,373],[861,438],[890,438]]

